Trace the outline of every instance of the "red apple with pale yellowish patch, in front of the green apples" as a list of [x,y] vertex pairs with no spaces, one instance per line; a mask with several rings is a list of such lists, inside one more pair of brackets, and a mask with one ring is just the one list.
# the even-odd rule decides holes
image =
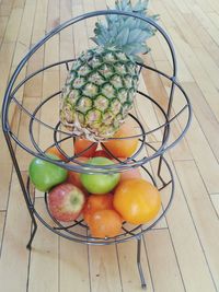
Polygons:
[[85,203],[85,195],[72,184],[64,183],[48,194],[48,207],[51,215],[62,222],[76,220]]

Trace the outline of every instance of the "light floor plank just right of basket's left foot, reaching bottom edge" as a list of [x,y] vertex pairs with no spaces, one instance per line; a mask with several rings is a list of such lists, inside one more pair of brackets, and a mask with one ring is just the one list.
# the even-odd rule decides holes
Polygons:
[[[44,199],[37,198],[35,208],[53,224],[46,213]],[[58,236],[41,224],[32,247],[28,291],[58,292]]]

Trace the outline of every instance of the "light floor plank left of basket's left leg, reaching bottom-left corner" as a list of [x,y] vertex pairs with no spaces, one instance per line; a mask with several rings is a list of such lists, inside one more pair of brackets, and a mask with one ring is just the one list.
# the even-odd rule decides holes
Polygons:
[[[25,174],[24,176],[26,177]],[[0,260],[0,283],[3,291],[23,292],[26,290],[30,253],[25,245],[30,232],[30,215],[16,174],[13,173]]]

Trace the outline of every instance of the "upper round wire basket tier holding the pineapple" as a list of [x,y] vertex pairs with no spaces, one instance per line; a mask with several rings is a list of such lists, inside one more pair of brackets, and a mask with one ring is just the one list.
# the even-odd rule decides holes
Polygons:
[[[50,68],[50,67],[53,67],[53,66],[59,66],[59,65],[62,65],[62,63],[68,63],[68,62],[70,62],[70,61],[72,61],[72,59],[71,59],[71,60],[66,60],[66,61],[56,62],[55,65],[47,66],[46,69],[48,69],[48,68]],[[130,137],[124,137],[124,138],[111,138],[110,140],[112,140],[112,139],[120,139],[120,140],[123,140],[123,139],[134,139],[134,138],[139,138],[139,137],[141,137],[140,141],[143,143],[143,142],[146,141],[146,136],[147,136],[147,135],[153,133],[153,132],[155,132],[155,131],[158,131],[158,130],[160,130],[160,129],[162,129],[162,128],[165,129],[165,135],[164,135],[164,139],[163,139],[163,141],[162,141],[160,148],[158,149],[157,153],[154,153],[154,154],[153,154],[152,156],[150,156],[150,157],[143,157],[143,159],[141,159],[140,161],[137,161],[137,162],[135,162],[135,163],[129,163],[129,164],[128,164],[128,167],[137,167],[137,166],[139,166],[139,165],[142,165],[142,164],[147,163],[148,161],[150,161],[151,159],[154,159],[154,157],[157,157],[158,155],[162,155],[166,150],[169,150],[170,148],[172,148],[173,145],[175,145],[175,144],[182,139],[182,137],[183,137],[184,133],[186,132],[187,128],[189,127],[189,124],[191,124],[191,117],[192,117],[192,108],[191,108],[189,100],[188,100],[188,97],[187,97],[185,91],[183,90],[183,87],[182,87],[182,86],[181,86],[181,85],[180,85],[180,84],[178,84],[172,77],[169,77],[166,73],[161,72],[160,70],[158,70],[158,69],[155,69],[155,68],[151,68],[151,67],[149,67],[149,66],[141,65],[141,70],[142,70],[142,69],[152,70],[152,71],[154,71],[154,72],[157,72],[157,73],[163,75],[164,78],[166,78],[166,79],[170,80],[171,82],[173,82],[173,83],[181,90],[181,92],[183,93],[183,96],[184,96],[186,103],[185,103],[185,106],[184,106],[178,113],[176,113],[172,118],[169,119],[166,113],[164,112],[164,109],[161,107],[161,105],[160,105],[157,101],[154,101],[151,96],[147,95],[146,93],[143,93],[143,92],[141,92],[141,91],[138,91],[138,94],[140,94],[141,96],[145,96],[146,98],[148,98],[151,103],[153,103],[153,104],[158,107],[158,109],[161,112],[162,116],[164,117],[164,120],[165,120],[164,124],[160,125],[159,127],[155,127],[154,129],[145,131],[142,125],[138,121],[138,119],[137,119],[135,116],[131,116],[131,117],[136,120],[136,122],[138,124],[138,126],[140,127],[140,129],[141,129],[141,133],[136,135],[136,136],[130,136]],[[56,93],[49,95],[47,98],[45,98],[45,100],[44,100],[44,101],[43,101],[43,102],[35,108],[35,110],[34,110],[33,113],[30,113],[30,112],[28,112],[22,104],[19,103],[19,101],[16,101],[16,98],[15,98],[15,96],[14,96],[14,94],[16,93],[16,91],[20,89],[21,85],[23,85],[23,84],[25,83],[25,81],[30,80],[31,78],[33,78],[34,75],[36,75],[37,73],[39,73],[39,72],[42,72],[42,71],[44,71],[44,70],[45,70],[45,68],[42,68],[42,69],[37,70],[36,72],[32,73],[31,75],[26,77],[26,79],[25,79],[24,81],[22,81],[22,82],[16,86],[16,89],[13,91],[13,98],[12,98],[12,100],[18,104],[18,106],[20,107],[20,109],[21,109],[21,110],[24,110],[24,113],[26,113],[26,114],[30,116],[30,118],[31,118],[31,121],[30,121],[30,133],[28,133],[28,135],[30,135],[31,141],[32,141],[32,143],[33,143],[33,145],[34,145],[34,148],[36,149],[37,152],[34,152],[34,151],[30,150],[25,144],[23,144],[21,141],[19,141],[19,138],[18,138],[18,137],[15,137],[15,136],[10,131],[10,135],[11,135],[11,137],[15,140],[15,142],[16,142],[21,148],[23,148],[25,151],[27,151],[28,153],[31,153],[31,154],[33,154],[33,155],[35,155],[35,156],[38,156],[38,157],[41,157],[41,159],[48,160],[48,157],[47,157],[46,154],[45,154],[45,151],[42,150],[42,149],[38,147],[37,142],[36,142],[35,139],[34,139],[34,136],[33,136],[33,122],[36,121],[36,122],[39,122],[41,125],[43,125],[43,126],[45,126],[45,127],[47,127],[48,129],[50,129],[50,130],[54,131],[54,141],[55,141],[54,145],[56,145],[56,147],[59,149],[59,151],[61,152],[61,154],[64,154],[64,155],[66,156],[66,164],[65,164],[62,161],[56,161],[56,162],[53,161],[53,163],[55,163],[55,164],[59,164],[59,166],[61,166],[61,167],[67,167],[68,170],[77,171],[77,172],[82,172],[82,171],[83,171],[83,170],[80,170],[80,167],[87,167],[87,168],[84,170],[84,172],[88,172],[88,171],[92,172],[92,171],[93,171],[93,172],[106,173],[106,172],[115,172],[115,171],[117,171],[117,172],[126,171],[127,167],[126,167],[126,165],[125,165],[125,162],[132,161],[132,159],[134,159],[135,156],[137,156],[138,153],[140,153],[140,150],[142,150],[142,147],[141,147],[142,143],[141,143],[140,148],[138,149],[138,151],[134,154],[134,156],[128,157],[125,162],[120,163],[122,165],[114,165],[114,166],[110,165],[110,166],[104,166],[104,167],[102,167],[102,171],[101,171],[99,167],[96,167],[96,166],[92,166],[92,167],[91,167],[91,165],[88,165],[88,164],[85,165],[85,164],[80,164],[80,163],[78,163],[79,166],[78,166],[78,165],[67,165],[67,163],[68,163],[69,161],[74,161],[78,156],[82,155],[82,154],[83,154],[89,148],[91,148],[92,145],[90,145],[88,149],[85,149],[83,152],[79,153],[78,155],[73,155],[73,156],[70,156],[70,157],[69,157],[68,155],[66,155],[66,153],[65,153],[65,152],[61,150],[61,148],[59,147],[59,142],[60,142],[60,141],[57,141],[56,137],[57,137],[57,133],[66,135],[66,136],[69,137],[69,138],[73,138],[73,137],[76,137],[76,135],[72,135],[72,133],[70,133],[70,132],[62,131],[62,130],[60,130],[57,126],[54,127],[54,126],[48,125],[48,124],[42,121],[41,119],[36,118],[36,114],[37,114],[38,110],[42,108],[42,106],[43,106],[45,103],[47,103],[48,101],[50,101],[53,97],[58,96],[58,94],[60,94],[60,91],[58,91],[58,92],[56,92]],[[168,145],[168,140],[169,140],[170,132],[171,132],[171,129],[170,129],[171,124],[172,124],[172,122],[173,122],[173,121],[174,121],[174,120],[175,120],[175,119],[176,119],[176,118],[177,118],[184,110],[186,110],[186,109],[188,110],[188,119],[187,119],[187,122],[186,122],[185,128],[182,130],[182,133],[175,139],[175,141],[173,141],[171,144]],[[57,125],[60,125],[60,122],[58,122]],[[103,148],[105,148],[105,147],[103,145]],[[115,156],[114,156],[114,155],[113,155],[106,148],[105,148],[105,150],[106,150],[106,152],[107,152],[111,156],[113,156],[114,159],[116,159],[116,157],[115,157]],[[49,161],[49,160],[48,160],[48,161]],[[122,167],[120,167],[120,166],[122,166]],[[99,168],[99,170],[97,170],[97,168]]]

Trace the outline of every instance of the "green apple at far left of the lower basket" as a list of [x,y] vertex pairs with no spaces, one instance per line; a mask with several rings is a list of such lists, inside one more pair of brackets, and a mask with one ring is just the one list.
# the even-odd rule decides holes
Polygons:
[[[54,154],[47,156],[51,160],[59,160]],[[56,164],[36,157],[32,160],[28,166],[28,175],[36,189],[48,191],[51,187],[65,182],[68,172]]]

